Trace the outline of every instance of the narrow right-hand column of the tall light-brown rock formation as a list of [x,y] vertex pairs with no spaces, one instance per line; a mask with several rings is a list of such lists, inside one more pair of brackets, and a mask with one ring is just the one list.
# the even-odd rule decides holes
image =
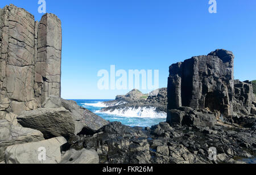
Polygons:
[[40,103],[48,96],[60,97],[61,22],[54,14],[46,14],[38,24],[35,63],[36,97]]

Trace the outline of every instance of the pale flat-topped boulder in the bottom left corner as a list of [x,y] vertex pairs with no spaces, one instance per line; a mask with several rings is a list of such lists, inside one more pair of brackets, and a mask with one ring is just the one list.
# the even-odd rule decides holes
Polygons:
[[[56,164],[61,161],[60,147],[67,143],[64,137],[57,137],[40,142],[16,144],[7,147],[5,161],[7,164]],[[46,150],[46,160],[38,159],[42,149]],[[43,157],[43,156],[42,156]]]

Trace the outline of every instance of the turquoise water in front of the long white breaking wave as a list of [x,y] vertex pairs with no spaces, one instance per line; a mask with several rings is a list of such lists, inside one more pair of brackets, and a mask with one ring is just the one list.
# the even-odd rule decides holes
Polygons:
[[93,113],[96,113],[98,116],[102,118],[114,122],[121,122],[123,125],[127,126],[141,126],[141,127],[151,127],[152,125],[156,125],[159,122],[165,122],[166,118],[156,118],[156,117],[129,117],[127,116],[119,116],[118,114],[106,114],[101,113],[99,110],[104,107],[101,102],[109,101],[109,100],[74,100],[78,105],[89,109]]

